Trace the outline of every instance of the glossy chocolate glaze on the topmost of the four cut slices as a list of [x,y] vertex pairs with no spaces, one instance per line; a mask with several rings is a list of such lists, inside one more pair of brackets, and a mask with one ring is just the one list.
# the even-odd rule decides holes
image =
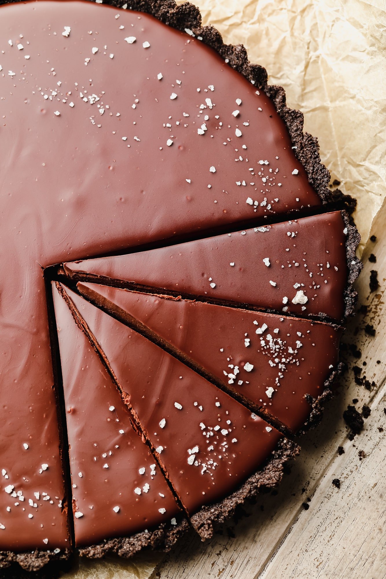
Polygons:
[[[66,263],[65,271],[340,320],[347,285],[340,211],[171,247]],[[297,299],[300,298],[300,299]],[[293,303],[295,301],[295,303]]]

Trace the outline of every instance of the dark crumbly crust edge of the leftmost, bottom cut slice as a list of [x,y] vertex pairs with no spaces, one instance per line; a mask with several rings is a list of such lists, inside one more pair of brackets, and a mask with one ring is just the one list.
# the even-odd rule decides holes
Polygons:
[[163,523],[152,531],[142,531],[131,537],[108,539],[103,543],[80,548],[79,555],[89,559],[101,559],[108,554],[119,555],[126,559],[142,549],[168,552],[189,529],[188,522],[183,519],[178,525],[171,527]]

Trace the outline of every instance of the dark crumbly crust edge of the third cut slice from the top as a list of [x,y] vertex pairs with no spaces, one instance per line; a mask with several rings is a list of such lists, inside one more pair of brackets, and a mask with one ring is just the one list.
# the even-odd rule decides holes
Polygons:
[[299,452],[300,446],[287,438],[282,438],[266,465],[249,477],[239,489],[219,503],[203,507],[191,516],[190,522],[200,535],[201,540],[204,541],[212,537],[215,528],[229,519],[239,505],[252,499],[259,492],[267,492],[276,488],[283,477],[284,464],[295,459]]

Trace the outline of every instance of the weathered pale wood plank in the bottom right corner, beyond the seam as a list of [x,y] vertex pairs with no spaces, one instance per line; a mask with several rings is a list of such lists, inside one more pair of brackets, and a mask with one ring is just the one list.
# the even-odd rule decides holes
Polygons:
[[[385,406],[384,384],[366,432],[354,444],[347,440],[259,579],[386,577],[386,437],[378,431],[386,427]],[[336,478],[340,489],[332,485]]]

